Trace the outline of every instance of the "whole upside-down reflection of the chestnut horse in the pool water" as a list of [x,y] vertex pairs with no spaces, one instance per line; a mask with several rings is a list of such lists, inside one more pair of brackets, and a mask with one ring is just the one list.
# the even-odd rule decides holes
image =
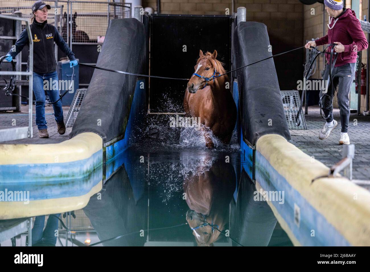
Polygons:
[[[210,159],[208,159],[210,160]],[[186,221],[198,246],[213,246],[229,220],[229,204],[235,191],[235,171],[231,163],[216,159],[211,166],[199,166],[184,180]],[[211,225],[213,225],[213,227]]]

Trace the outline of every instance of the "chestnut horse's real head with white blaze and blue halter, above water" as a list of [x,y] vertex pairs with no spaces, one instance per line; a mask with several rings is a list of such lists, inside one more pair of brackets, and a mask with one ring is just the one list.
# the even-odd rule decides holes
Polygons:
[[196,93],[199,89],[203,89],[206,85],[211,86],[215,82],[213,77],[219,75],[216,73],[220,72],[216,71],[219,63],[216,57],[216,50],[212,54],[206,52],[204,55],[202,50],[199,50],[199,58],[194,66],[195,72],[188,82],[188,92]]

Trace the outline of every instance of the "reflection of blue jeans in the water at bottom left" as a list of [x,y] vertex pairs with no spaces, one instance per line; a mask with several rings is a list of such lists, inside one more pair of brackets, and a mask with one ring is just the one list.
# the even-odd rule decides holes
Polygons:
[[[60,214],[54,214],[58,218]],[[55,230],[58,229],[58,218],[49,215],[44,229],[45,215],[36,216],[35,222],[32,228],[32,245],[36,243],[47,243],[55,245],[57,243],[57,236],[55,236]]]

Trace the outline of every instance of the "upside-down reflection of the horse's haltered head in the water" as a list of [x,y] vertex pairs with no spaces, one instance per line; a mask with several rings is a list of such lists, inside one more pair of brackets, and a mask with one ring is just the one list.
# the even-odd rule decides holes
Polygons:
[[212,224],[213,219],[211,217],[196,213],[194,210],[188,210],[186,221],[188,221],[190,228],[193,230],[198,246],[213,246],[213,242],[218,238],[219,232],[207,224]]

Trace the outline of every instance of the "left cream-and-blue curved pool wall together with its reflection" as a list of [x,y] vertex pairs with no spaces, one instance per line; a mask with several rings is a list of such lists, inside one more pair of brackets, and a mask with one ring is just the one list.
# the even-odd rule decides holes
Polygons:
[[[56,144],[0,145],[0,154],[0,219],[78,210],[101,190],[102,139],[95,133]],[[14,201],[19,191],[26,191],[17,198],[23,201]]]

